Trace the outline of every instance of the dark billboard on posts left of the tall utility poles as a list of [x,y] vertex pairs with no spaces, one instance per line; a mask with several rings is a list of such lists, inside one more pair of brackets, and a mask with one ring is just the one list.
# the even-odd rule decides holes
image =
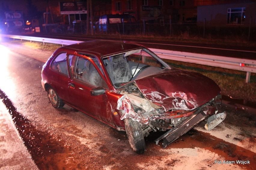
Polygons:
[[86,2],[59,2],[60,14],[87,13]]

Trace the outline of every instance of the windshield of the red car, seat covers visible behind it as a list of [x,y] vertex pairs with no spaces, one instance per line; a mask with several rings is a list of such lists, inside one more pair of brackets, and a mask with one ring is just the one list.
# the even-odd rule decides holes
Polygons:
[[104,57],[103,62],[116,87],[170,68],[163,60],[145,48]]

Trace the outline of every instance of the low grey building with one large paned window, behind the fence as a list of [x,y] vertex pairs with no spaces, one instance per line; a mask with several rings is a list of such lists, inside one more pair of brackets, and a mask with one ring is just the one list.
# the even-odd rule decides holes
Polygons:
[[230,1],[197,6],[197,24],[207,23],[208,26],[256,26],[256,1],[228,2]]

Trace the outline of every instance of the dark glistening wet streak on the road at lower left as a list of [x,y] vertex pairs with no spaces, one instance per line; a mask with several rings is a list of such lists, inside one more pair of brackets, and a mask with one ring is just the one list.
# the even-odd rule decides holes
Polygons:
[[[11,100],[0,89],[0,98],[8,109],[11,119],[23,140],[24,145],[32,155],[32,159],[39,169],[59,169],[57,163],[52,163],[49,160],[56,160],[56,155],[66,157],[69,153],[69,148],[65,143],[57,137],[52,136],[44,131],[38,130],[29,119],[22,116],[21,113],[12,104]],[[64,155],[63,155],[64,154]],[[61,164],[61,159],[58,161]],[[29,168],[30,169],[30,168]]]

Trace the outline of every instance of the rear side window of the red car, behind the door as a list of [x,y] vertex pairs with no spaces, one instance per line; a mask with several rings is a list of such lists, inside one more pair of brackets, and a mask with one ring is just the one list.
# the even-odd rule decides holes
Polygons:
[[66,53],[60,53],[50,67],[55,71],[69,75]]

